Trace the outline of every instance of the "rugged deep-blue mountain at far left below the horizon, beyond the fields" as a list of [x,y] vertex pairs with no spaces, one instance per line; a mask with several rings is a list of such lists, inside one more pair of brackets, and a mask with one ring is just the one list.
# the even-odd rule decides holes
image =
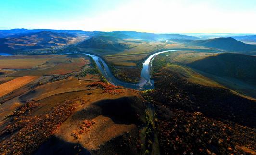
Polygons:
[[1,52],[9,53],[14,50],[42,49],[68,44],[77,36],[68,33],[40,31],[15,35],[15,37],[0,38]]

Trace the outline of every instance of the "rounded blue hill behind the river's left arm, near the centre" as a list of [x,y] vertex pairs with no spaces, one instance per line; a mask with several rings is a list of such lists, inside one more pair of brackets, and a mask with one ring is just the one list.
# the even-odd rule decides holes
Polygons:
[[128,45],[120,43],[120,39],[110,36],[92,37],[88,40],[81,42],[78,47],[80,48],[96,48],[105,50],[122,51],[129,48]]

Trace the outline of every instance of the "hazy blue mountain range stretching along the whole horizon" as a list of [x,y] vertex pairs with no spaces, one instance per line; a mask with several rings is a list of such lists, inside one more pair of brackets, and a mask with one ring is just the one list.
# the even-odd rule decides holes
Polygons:
[[50,30],[50,29],[12,29],[0,30],[0,52],[10,53],[15,50],[43,49],[72,43],[77,37],[86,37],[78,46],[82,48],[108,49],[120,51],[128,48],[121,40],[139,39],[145,41],[173,41],[193,46],[205,46],[233,52],[256,51],[256,46],[245,44],[239,40],[251,41],[254,35],[234,38],[214,38],[200,40],[194,36],[180,34],[154,34],[136,31],[82,31],[82,30]]

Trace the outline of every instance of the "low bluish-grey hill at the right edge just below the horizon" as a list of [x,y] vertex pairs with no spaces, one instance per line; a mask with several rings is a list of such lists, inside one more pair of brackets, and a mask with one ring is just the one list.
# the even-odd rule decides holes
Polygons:
[[248,52],[256,51],[255,45],[245,44],[243,42],[237,41],[234,38],[214,38],[207,40],[195,40],[188,42],[192,45],[205,46],[211,48],[218,48],[226,51],[239,51]]

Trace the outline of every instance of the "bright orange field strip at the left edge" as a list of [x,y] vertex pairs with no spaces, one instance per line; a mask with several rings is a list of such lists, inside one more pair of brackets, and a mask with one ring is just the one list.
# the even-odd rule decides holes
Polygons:
[[25,77],[18,77],[6,83],[0,85],[0,97],[12,92],[15,89],[18,89],[31,81],[37,79],[38,76],[25,76]]

